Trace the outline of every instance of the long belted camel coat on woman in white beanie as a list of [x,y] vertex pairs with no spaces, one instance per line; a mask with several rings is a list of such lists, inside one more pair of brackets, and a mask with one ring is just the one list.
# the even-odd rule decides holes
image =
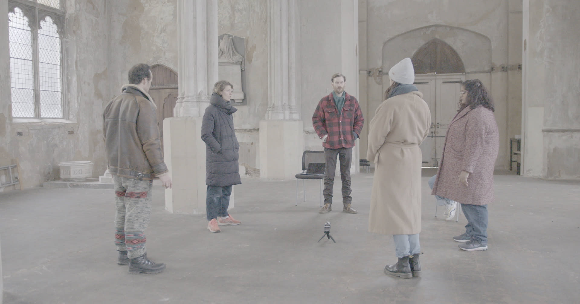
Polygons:
[[396,95],[376,109],[368,134],[367,160],[375,163],[368,230],[383,234],[421,231],[419,144],[431,125],[429,106],[418,91]]

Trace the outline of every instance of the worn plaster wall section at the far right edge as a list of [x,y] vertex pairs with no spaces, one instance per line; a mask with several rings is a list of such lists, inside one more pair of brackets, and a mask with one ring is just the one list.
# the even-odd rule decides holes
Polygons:
[[580,2],[524,0],[521,174],[580,176]]

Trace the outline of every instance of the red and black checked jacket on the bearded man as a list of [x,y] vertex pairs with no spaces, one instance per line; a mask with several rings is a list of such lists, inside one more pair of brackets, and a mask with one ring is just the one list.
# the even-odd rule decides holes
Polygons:
[[358,101],[354,96],[345,92],[345,106],[342,113],[338,109],[332,97],[332,93],[322,97],[312,116],[312,125],[318,137],[322,139],[328,134],[327,141],[322,146],[329,149],[354,147],[354,134],[361,134],[364,117]]

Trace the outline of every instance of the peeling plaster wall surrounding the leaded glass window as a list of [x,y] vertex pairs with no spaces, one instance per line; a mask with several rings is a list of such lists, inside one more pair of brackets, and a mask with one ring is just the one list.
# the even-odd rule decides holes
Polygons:
[[[0,3],[7,12],[8,1]],[[107,18],[104,0],[65,1],[63,95],[67,105],[64,120],[13,119],[10,110],[8,43],[0,51],[0,162],[19,158],[22,186],[35,187],[59,179],[59,162],[89,160],[95,176],[104,170],[102,97],[106,92]],[[4,14],[5,15],[5,14]],[[0,39],[8,41],[8,20],[2,16]],[[104,74],[103,74],[104,73]],[[96,81],[96,83],[94,82]],[[21,132],[21,136],[17,135]]]

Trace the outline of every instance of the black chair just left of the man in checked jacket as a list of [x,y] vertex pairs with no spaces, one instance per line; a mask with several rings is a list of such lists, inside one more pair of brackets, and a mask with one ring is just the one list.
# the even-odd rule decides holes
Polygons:
[[304,151],[302,153],[302,173],[296,175],[296,206],[298,206],[298,184],[303,180],[304,201],[306,202],[306,180],[320,180],[320,206],[324,202],[322,189],[324,182],[324,170],[326,169],[326,160],[324,151]]

